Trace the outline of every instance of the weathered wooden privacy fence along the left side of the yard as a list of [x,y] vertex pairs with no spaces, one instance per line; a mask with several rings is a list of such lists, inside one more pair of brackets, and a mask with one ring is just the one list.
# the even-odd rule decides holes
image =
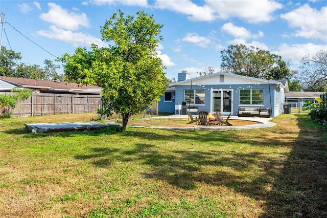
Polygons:
[[[0,95],[4,94],[12,93],[0,92]],[[33,93],[29,99],[18,101],[10,113],[19,117],[95,112],[99,108],[100,100],[100,95]],[[0,109],[0,113],[3,113],[3,109]]]

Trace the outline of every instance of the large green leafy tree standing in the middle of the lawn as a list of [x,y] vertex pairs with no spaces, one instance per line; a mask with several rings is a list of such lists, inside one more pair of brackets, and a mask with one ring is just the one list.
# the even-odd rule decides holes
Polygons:
[[129,116],[159,100],[168,84],[155,50],[163,39],[162,25],[143,11],[136,14],[125,16],[119,10],[106,20],[100,32],[108,48],[79,48],[73,56],[64,54],[60,59],[69,79],[102,86],[104,107],[99,113],[122,114],[123,130]]

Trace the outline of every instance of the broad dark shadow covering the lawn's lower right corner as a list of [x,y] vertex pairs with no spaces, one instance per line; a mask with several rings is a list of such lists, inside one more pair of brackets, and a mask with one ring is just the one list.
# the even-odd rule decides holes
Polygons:
[[306,115],[283,169],[268,192],[262,217],[327,217],[327,132]]

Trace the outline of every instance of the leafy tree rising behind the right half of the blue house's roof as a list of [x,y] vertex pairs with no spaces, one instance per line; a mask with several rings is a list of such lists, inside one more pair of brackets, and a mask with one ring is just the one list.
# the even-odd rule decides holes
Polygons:
[[[274,78],[277,71],[270,72],[278,61],[281,62],[282,57],[271,54],[268,51],[260,50],[259,48],[247,47],[245,45],[230,45],[227,50],[221,52],[221,69],[222,71],[250,76],[256,78]],[[278,69],[276,69],[278,70]]]

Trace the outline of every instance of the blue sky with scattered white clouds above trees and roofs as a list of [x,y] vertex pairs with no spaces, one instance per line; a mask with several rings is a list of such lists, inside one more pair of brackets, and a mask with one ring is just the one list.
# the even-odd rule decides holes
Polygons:
[[220,51],[240,43],[281,55],[292,69],[303,56],[327,51],[325,0],[0,0],[2,46],[21,53],[18,63],[43,67],[45,59],[78,47],[102,46],[100,27],[118,9],[129,15],[144,10],[164,25],[157,53],[168,78],[182,70],[192,78],[209,66],[219,72]]

